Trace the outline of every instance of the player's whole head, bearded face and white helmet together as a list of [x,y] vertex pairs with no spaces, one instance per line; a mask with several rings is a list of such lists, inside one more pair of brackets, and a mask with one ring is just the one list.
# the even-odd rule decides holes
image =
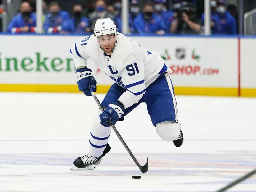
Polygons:
[[117,43],[117,29],[110,18],[98,19],[96,21],[94,36],[101,50],[106,53],[113,52]]

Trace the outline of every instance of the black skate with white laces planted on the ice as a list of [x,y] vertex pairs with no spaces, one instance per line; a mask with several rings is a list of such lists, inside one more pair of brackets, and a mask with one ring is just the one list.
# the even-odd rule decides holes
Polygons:
[[87,153],[84,156],[76,158],[73,163],[73,166],[70,170],[93,170],[96,168],[96,165],[100,164],[102,157],[110,151],[111,147],[107,143],[105,150],[103,151],[102,156],[94,157],[90,153]]

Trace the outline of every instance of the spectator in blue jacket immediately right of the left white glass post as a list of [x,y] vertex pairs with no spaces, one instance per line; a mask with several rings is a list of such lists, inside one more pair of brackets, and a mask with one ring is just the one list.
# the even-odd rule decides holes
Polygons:
[[49,12],[46,14],[44,22],[44,30],[48,34],[66,33],[62,31],[63,25],[68,25],[70,19],[69,13],[60,10],[60,5],[57,2],[49,4]]

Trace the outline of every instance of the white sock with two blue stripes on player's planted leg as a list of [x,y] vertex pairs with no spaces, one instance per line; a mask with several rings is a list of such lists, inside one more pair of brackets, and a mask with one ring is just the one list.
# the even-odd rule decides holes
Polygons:
[[100,114],[101,111],[99,110],[92,120],[89,140],[89,153],[95,157],[99,157],[103,154],[111,133],[111,127],[104,127],[100,124]]

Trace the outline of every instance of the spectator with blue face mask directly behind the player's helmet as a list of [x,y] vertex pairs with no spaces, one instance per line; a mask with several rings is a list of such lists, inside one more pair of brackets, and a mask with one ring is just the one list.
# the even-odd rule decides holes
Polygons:
[[109,17],[111,20],[113,21],[115,20],[113,15],[106,12],[105,10],[106,3],[104,0],[97,0],[95,3],[95,6],[96,6],[96,14],[93,15],[93,17],[91,18],[91,21],[92,21],[91,31],[94,31],[95,23],[98,19],[104,19]]

